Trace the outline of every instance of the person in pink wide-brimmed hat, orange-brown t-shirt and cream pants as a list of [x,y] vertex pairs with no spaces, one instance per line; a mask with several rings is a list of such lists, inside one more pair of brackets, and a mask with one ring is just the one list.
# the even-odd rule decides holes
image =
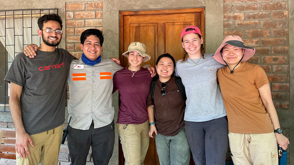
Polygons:
[[227,36],[213,58],[225,68],[217,71],[228,115],[229,144],[234,165],[278,165],[277,143],[285,150],[265,71],[246,62],[255,53],[239,36]]

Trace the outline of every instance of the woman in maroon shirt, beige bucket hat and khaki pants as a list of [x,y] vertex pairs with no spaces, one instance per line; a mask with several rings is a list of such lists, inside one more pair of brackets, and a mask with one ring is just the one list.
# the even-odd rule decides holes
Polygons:
[[117,129],[121,139],[125,165],[144,164],[149,146],[149,121],[146,100],[152,81],[143,62],[150,60],[143,43],[133,42],[123,53],[129,67],[117,71],[113,76],[113,92],[118,89],[119,108]]

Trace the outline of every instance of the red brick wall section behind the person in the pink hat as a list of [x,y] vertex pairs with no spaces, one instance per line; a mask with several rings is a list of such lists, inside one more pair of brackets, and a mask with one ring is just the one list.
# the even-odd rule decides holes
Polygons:
[[[289,109],[288,0],[224,0],[223,9],[224,36],[256,48],[248,62],[265,70],[276,109]],[[283,131],[289,138],[289,128]]]

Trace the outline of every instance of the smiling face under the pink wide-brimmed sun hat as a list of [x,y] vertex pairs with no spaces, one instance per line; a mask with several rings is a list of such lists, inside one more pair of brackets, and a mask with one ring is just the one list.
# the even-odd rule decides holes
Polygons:
[[244,49],[231,45],[223,47],[223,59],[228,65],[236,66],[243,57]]

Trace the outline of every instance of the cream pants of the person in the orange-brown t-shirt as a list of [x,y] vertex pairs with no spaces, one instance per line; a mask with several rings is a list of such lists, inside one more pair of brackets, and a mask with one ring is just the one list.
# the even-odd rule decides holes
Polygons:
[[275,133],[229,133],[228,136],[234,165],[278,165]]

